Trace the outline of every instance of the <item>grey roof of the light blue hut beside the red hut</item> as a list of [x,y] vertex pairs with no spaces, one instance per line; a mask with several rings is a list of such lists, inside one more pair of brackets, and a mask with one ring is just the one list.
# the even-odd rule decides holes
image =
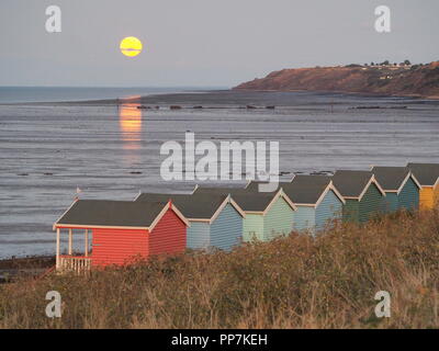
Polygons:
[[136,202],[171,200],[187,218],[211,219],[228,194],[155,194],[142,193]]

